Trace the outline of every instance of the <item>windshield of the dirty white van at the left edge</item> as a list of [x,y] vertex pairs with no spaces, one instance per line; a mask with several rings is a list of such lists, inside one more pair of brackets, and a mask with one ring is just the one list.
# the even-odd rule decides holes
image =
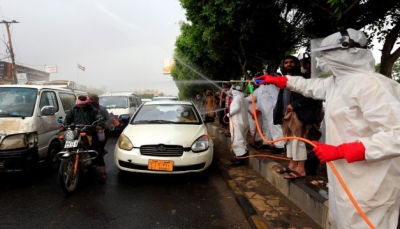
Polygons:
[[0,117],[32,116],[37,94],[35,88],[0,88]]

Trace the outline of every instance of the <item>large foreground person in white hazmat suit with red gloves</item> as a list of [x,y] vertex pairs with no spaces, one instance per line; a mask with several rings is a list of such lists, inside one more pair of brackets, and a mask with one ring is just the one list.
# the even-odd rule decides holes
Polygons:
[[[264,75],[256,80],[326,100],[326,144],[315,142],[313,151],[321,161],[332,161],[376,228],[397,228],[400,85],[375,72],[371,51],[361,48],[366,44],[364,33],[341,30],[323,39],[317,49],[322,51],[318,67],[332,76],[304,79]],[[333,227],[368,228],[329,167],[328,180]]]

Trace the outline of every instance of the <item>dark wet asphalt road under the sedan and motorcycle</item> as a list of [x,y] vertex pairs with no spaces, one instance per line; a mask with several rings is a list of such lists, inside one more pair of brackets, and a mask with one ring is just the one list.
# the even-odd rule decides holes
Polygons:
[[97,169],[72,195],[44,166],[0,174],[0,228],[251,228],[215,163],[201,174],[120,173],[116,141],[106,147],[108,179]]

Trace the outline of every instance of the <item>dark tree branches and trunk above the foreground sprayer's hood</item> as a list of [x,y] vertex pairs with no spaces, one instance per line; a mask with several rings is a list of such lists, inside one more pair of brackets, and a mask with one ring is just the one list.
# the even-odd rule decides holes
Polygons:
[[267,5],[288,28],[308,38],[325,37],[338,29],[363,29],[369,39],[384,42],[380,72],[391,77],[393,63],[400,57],[394,49],[400,37],[400,1],[398,0],[283,0]]

